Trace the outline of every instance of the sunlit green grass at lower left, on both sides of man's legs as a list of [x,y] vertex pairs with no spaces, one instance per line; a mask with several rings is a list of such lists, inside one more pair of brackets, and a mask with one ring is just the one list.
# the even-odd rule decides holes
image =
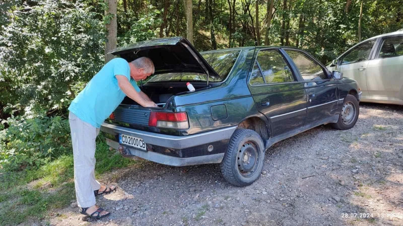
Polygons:
[[[111,152],[97,142],[95,174],[136,162]],[[0,177],[0,225],[16,225],[32,217],[43,218],[48,210],[62,208],[75,199],[73,155],[64,155],[36,169],[2,172]],[[33,186],[28,183],[34,181]],[[51,184],[51,188],[44,187]]]

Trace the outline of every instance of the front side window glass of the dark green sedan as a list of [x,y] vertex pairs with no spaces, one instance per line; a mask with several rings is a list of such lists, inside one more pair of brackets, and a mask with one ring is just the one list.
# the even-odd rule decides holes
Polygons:
[[305,53],[296,50],[286,50],[286,52],[299,69],[304,81],[327,79],[327,75],[324,73],[322,66]]

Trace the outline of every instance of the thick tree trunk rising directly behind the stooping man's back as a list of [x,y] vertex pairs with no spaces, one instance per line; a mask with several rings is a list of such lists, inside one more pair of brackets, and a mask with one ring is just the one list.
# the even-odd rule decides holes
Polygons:
[[105,41],[105,63],[114,58],[112,54],[107,54],[111,50],[116,49],[116,35],[117,35],[117,21],[116,21],[116,0],[108,0],[108,11],[105,11],[105,15],[112,15],[112,19],[109,24],[105,24],[107,36]]

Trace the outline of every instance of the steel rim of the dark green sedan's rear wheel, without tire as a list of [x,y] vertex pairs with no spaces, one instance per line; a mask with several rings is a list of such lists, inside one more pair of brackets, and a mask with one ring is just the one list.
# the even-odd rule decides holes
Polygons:
[[238,151],[237,168],[243,177],[250,177],[259,166],[260,151],[256,143],[245,142]]

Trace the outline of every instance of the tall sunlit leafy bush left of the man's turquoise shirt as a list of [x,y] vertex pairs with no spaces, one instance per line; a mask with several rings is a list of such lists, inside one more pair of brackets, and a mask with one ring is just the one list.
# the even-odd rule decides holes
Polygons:
[[65,108],[102,66],[104,29],[84,3],[16,5],[0,33],[0,103],[36,116]]

